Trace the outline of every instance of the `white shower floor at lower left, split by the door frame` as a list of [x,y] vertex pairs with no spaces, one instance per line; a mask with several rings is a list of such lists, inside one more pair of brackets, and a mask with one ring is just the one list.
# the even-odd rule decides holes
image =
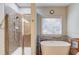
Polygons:
[[[17,48],[12,55],[22,55],[22,48]],[[24,55],[31,55],[31,47],[24,47]]]

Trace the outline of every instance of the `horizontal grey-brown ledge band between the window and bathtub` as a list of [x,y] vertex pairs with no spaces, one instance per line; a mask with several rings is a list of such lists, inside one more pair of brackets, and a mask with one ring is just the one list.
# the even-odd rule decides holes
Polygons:
[[40,35],[40,41],[44,41],[44,40],[64,41],[67,38],[68,38],[67,35]]

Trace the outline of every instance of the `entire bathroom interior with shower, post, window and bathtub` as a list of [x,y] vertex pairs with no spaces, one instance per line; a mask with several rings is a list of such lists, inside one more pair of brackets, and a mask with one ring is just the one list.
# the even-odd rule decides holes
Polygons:
[[[5,3],[0,54],[79,54],[78,3]],[[54,44],[55,43],[55,44]],[[3,45],[2,45],[3,44]],[[5,47],[5,48],[3,48]],[[3,52],[2,52],[3,51]]]

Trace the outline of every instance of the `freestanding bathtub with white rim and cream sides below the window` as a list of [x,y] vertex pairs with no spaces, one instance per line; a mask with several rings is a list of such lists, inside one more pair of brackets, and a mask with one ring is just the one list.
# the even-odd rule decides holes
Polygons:
[[71,44],[65,41],[42,41],[42,55],[68,55]]

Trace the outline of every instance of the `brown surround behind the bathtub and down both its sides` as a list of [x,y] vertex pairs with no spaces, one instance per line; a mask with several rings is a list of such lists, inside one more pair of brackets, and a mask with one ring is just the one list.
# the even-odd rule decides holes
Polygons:
[[[69,54],[70,55],[75,55],[77,54],[77,52],[79,52],[79,38],[71,38],[67,35],[58,35],[58,36],[50,36],[50,35],[41,35],[41,36],[38,36],[38,42],[37,42],[37,54],[42,54],[42,51],[41,51],[41,45],[40,43],[42,41],[65,41],[65,42],[68,42],[71,44],[71,47],[70,47],[70,51],[69,51]],[[72,45],[73,43],[72,42],[78,42],[78,47],[77,48],[73,48]],[[76,43],[75,43],[76,44]]]

